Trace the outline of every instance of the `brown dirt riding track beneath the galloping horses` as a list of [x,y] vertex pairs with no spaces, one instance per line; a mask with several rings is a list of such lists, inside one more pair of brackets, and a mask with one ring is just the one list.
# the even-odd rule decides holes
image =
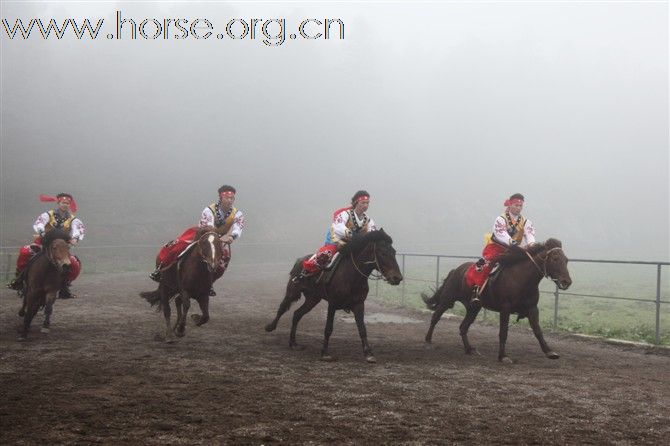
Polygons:
[[[138,292],[145,274],[84,275],[78,299],[56,302],[50,334],[17,342],[20,300],[0,296],[0,443],[8,444],[667,444],[667,351],[548,334],[546,359],[527,328],[475,323],[466,356],[459,321],[368,302],[378,360],[364,361],[351,315],[338,312],[336,362],[319,361],[325,303],[288,348],[294,307],[263,326],[287,268],[232,265],[212,319],[175,344],[156,340],[162,315]],[[197,312],[193,302],[192,312]],[[665,438],[665,440],[663,440]]]

